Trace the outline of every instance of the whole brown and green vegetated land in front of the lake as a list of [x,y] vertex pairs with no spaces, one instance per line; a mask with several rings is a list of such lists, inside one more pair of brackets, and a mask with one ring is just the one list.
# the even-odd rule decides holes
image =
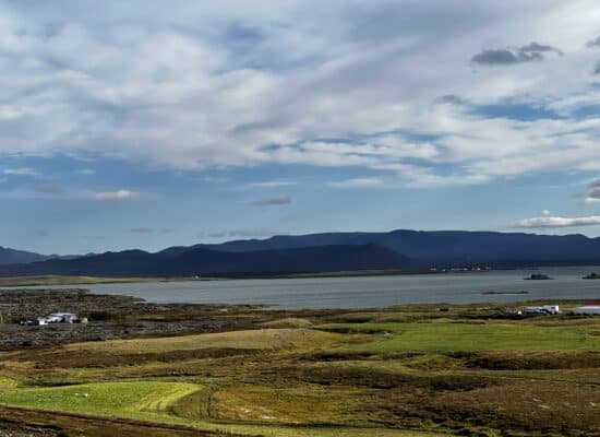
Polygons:
[[[19,293],[24,302],[33,293],[40,310],[59,298]],[[74,305],[65,309],[108,299],[62,293],[61,305]],[[7,295],[5,310],[15,299]],[[122,298],[86,327],[8,320],[0,336],[22,330],[37,341],[0,342],[0,435],[599,434],[600,318],[496,318],[504,309],[267,310]],[[85,330],[101,336],[91,341]]]

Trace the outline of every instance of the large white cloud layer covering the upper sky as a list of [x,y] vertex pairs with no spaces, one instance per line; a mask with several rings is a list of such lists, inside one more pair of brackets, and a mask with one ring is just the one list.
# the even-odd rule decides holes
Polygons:
[[[358,166],[413,187],[600,169],[600,117],[574,116],[597,102],[592,0],[75,3],[0,9],[0,156]],[[469,62],[535,40],[565,55]],[[464,104],[432,104],[448,95]],[[564,118],[476,110],[507,102]]]

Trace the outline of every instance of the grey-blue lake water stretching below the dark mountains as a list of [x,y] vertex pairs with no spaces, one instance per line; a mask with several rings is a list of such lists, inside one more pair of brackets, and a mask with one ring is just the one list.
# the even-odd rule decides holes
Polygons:
[[[600,299],[600,280],[583,280],[598,267],[561,267],[467,273],[362,277],[302,277],[73,285],[92,293],[154,303],[268,304],[276,308],[365,308],[398,304]],[[531,273],[553,280],[525,281]],[[65,288],[61,285],[55,288]],[[528,292],[528,294],[520,294]]]

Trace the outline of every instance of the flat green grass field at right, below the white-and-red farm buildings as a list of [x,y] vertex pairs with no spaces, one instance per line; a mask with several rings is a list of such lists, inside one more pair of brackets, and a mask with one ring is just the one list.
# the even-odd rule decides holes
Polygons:
[[600,336],[579,326],[539,327],[503,323],[341,323],[327,328],[386,331],[373,342],[350,344],[356,350],[481,352],[600,351]]

